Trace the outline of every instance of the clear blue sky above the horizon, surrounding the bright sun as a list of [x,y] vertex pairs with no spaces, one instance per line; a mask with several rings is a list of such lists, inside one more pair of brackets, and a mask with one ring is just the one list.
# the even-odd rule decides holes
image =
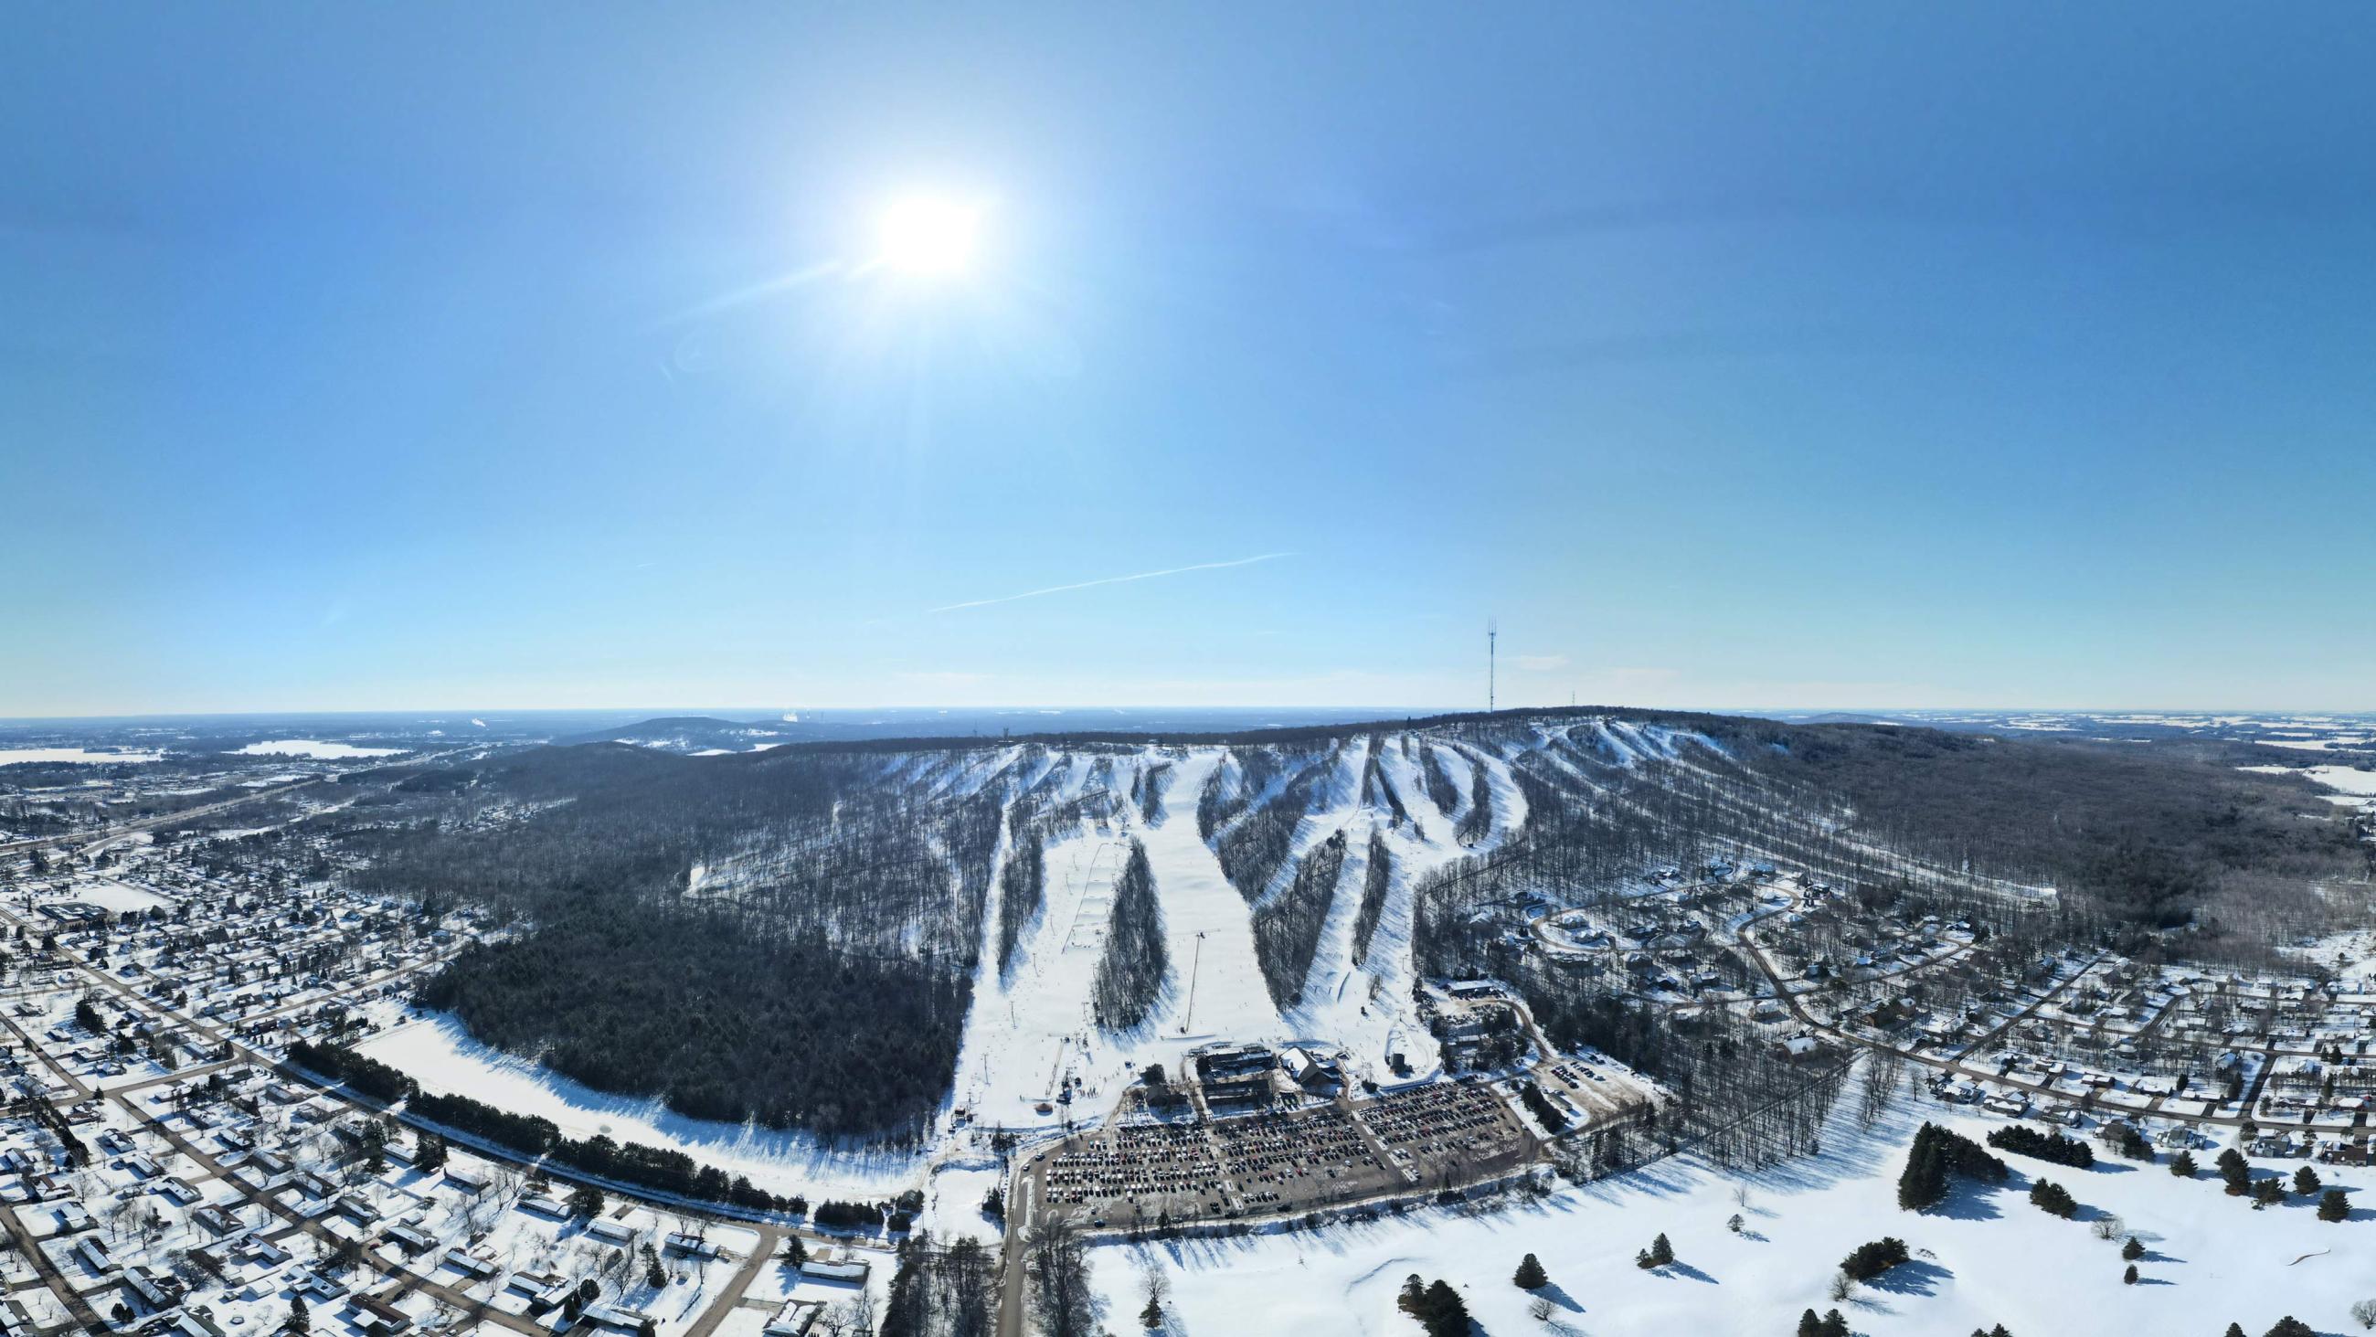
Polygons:
[[[2371,69],[2314,2],[24,5],[0,715],[1483,705],[1487,615],[1506,705],[2376,710]],[[960,273],[870,264],[917,190]]]

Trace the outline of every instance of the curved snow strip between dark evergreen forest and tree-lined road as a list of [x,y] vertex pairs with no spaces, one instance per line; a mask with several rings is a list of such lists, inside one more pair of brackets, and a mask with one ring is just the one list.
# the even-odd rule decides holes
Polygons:
[[922,1152],[846,1152],[803,1133],[687,1119],[658,1100],[606,1095],[542,1064],[470,1038],[449,1014],[409,1021],[361,1045],[423,1090],[468,1095],[499,1109],[551,1119],[568,1138],[675,1147],[753,1185],[808,1197],[877,1197],[915,1185]]

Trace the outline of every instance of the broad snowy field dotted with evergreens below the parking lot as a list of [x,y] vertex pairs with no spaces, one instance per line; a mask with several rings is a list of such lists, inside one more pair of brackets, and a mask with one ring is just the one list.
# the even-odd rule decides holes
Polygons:
[[[1839,1309],[1872,1337],[1963,1337],[2003,1323],[2017,1337],[2115,1332],[2200,1332],[2226,1323],[2264,1332],[2293,1313],[2319,1332],[2357,1330],[2350,1306],[2376,1297],[2376,1221],[2317,1221],[2309,1199],[2252,1211],[2226,1197],[2200,1152],[2203,1178],[2176,1180],[2162,1164],[2098,1161],[2093,1171],[2024,1157],[2012,1183],[1958,1185],[1934,1214],[1896,1206],[1906,1145],[1922,1119],[1982,1138],[1991,1123],[1901,1100],[1872,1128],[1858,1128],[1858,1092],[1839,1100],[1820,1157],[1763,1173],[1723,1173],[1694,1159],[1647,1166],[1587,1187],[1497,1211],[1418,1209],[1366,1225],[1159,1244],[1100,1244],[1095,1285],[1105,1325],[1136,1328],[1140,1268],[1171,1278],[1171,1335],[1193,1337],[1411,1337],[1418,1325],[1395,1309],[1402,1280],[1418,1273],[1461,1290],[1483,1332],[1552,1332],[1528,1316],[1533,1294],[1511,1285],[1523,1254],[1537,1254],[1552,1285],[1554,1323],[1594,1337],[1782,1337],[1799,1313]],[[2290,1176],[2300,1161],[2267,1161]],[[2319,1166],[2328,1185],[2376,1195],[2376,1173]],[[2079,1221],[2046,1216],[2027,1185],[2050,1178],[2081,1204]],[[1734,1197],[1746,1190],[1746,1206]],[[1744,1216],[1734,1235],[1725,1221]],[[2119,1216],[2146,1244],[2141,1282],[2122,1282],[2119,1240],[2098,1240],[2091,1221]],[[1635,1266],[1635,1252],[1666,1233],[1677,1263]],[[1915,1259],[1849,1301],[1827,1299],[1839,1261],[1868,1240],[1896,1235]]]

